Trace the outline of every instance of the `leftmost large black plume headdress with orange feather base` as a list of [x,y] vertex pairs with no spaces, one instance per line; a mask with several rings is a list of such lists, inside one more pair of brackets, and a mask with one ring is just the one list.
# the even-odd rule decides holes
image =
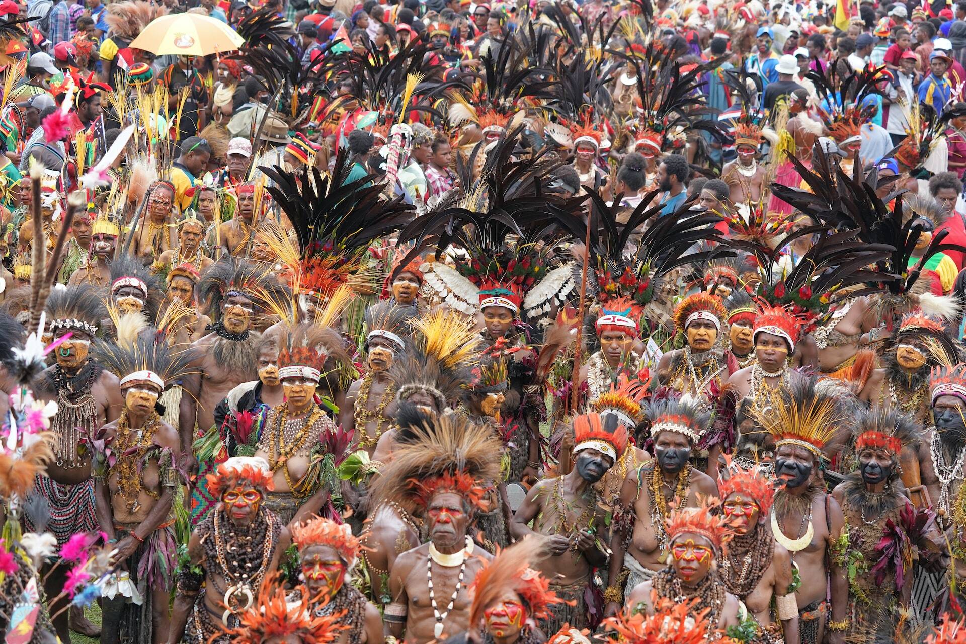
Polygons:
[[362,256],[369,244],[397,232],[412,218],[412,206],[402,196],[383,198],[383,185],[364,177],[348,182],[349,154],[340,148],[331,175],[318,168],[287,172],[279,166],[262,166],[274,182],[268,190],[285,212],[301,251],[293,290],[331,295],[347,284],[354,290],[372,286],[376,273],[363,269]]

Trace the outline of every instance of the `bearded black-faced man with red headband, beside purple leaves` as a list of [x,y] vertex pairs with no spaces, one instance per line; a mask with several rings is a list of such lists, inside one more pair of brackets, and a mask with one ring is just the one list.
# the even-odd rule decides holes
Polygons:
[[[911,571],[903,570],[902,565],[896,567],[894,560],[883,555],[880,541],[884,537],[895,539],[895,530],[887,527],[887,521],[905,534],[899,512],[911,508],[911,504],[899,481],[899,453],[905,448],[917,449],[922,430],[912,418],[895,409],[879,407],[860,411],[852,431],[859,469],[849,474],[832,494],[841,505],[848,535],[847,545],[842,543],[838,548],[839,565],[848,566],[851,552],[862,553],[859,574],[849,580],[848,630],[850,635],[861,637],[876,626],[880,610],[892,611],[900,603],[906,605],[912,591]],[[905,540],[909,539],[906,535]],[[913,537],[911,546],[917,548],[918,541],[918,536]],[[873,567],[880,570],[882,564],[882,573],[869,572]],[[880,578],[880,574],[884,577]]]

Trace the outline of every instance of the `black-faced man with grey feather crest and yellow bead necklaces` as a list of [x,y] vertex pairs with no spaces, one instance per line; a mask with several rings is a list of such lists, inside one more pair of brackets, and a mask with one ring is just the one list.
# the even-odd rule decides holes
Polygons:
[[707,407],[690,396],[671,396],[645,406],[645,414],[651,423],[654,460],[640,465],[638,476],[629,477],[621,490],[619,505],[624,511],[615,512],[612,522],[610,578],[622,578],[623,569],[628,574],[623,588],[611,582],[605,592],[608,614],[620,608],[626,593],[664,568],[669,505],[693,506],[698,494],[718,494],[711,477],[690,462],[698,436],[708,425]]

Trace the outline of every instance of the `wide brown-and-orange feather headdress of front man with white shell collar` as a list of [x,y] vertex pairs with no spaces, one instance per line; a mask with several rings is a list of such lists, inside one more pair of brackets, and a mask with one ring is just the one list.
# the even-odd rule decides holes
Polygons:
[[422,513],[441,492],[455,492],[471,509],[484,509],[486,491],[497,481],[502,442],[474,431],[467,418],[443,413],[393,453],[370,494],[395,501],[409,513]]

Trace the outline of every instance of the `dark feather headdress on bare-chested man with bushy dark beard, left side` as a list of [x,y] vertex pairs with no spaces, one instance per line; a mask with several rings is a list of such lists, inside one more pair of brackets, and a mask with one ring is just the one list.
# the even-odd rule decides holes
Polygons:
[[221,319],[221,305],[229,294],[242,294],[263,311],[278,308],[288,297],[287,289],[270,270],[234,257],[224,257],[205,268],[195,293],[213,320]]

